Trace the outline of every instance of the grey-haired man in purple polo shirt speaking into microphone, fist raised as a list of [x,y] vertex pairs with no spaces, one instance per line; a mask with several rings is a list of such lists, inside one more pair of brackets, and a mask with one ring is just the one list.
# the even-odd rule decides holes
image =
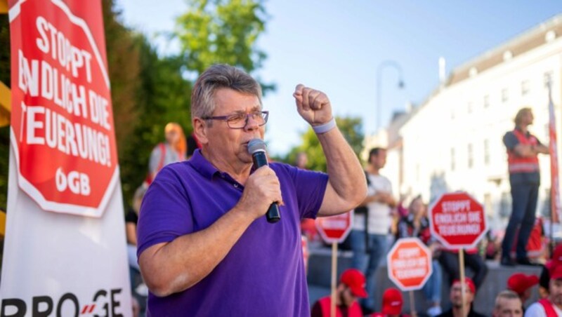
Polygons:
[[[197,79],[192,125],[202,149],[158,173],[138,220],[138,256],[150,289],[148,316],[308,316],[300,221],[351,210],[365,175],[324,93],[296,86],[328,173],[282,163],[253,168],[250,140],[268,112],[259,83],[228,65]],[[266,213],[279,206],[280,220]]]

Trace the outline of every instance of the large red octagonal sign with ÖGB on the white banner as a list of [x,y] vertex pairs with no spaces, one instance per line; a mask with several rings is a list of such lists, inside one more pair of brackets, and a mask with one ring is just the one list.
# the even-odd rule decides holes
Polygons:
[[99,217],[119,180],[105,39],[72,10],[11,9],[11,144],[18,184],[41,208]]

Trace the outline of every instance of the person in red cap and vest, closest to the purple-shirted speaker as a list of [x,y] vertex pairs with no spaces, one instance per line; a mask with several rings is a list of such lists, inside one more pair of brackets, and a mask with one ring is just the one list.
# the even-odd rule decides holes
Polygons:
[[[363,316],[357,299],[365,297],[367,297],[365,276],[358,269],[347,269],[341,274],[336,288],[336,316]],[[311,317],[329,317],[330,304],[332,304],[330,296],[318,299],[312,307]]]

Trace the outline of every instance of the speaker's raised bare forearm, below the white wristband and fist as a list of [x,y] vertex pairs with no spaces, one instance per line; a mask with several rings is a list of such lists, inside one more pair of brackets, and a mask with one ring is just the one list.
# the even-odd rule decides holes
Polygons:
[[318,135],[326,156],[329,185],[342,201],[339,213],[355,208],[367,195],[365,173],[339,129]]

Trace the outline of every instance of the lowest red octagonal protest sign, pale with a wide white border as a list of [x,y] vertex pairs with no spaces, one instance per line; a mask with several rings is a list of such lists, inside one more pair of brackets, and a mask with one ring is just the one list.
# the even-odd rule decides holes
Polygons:
[[419,238],[400,238],[386,255],[386,267],[400,290],[419,290],[433,272],[431,251]]

